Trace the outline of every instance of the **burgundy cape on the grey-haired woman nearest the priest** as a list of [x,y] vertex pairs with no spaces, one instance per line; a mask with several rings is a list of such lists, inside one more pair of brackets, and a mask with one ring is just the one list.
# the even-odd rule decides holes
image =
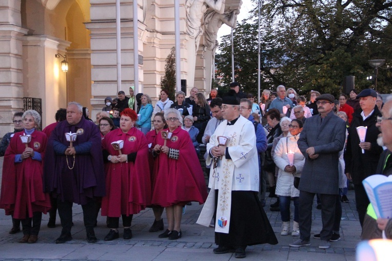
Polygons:
[[[162,131],[166,130],[169,131]],[[160,133],[156,142],[164,145]],[[179,150],[179,157],[169,158],[161,152],[155,159],[151,204],[161,207],[184,205],[190,201],[203,204],[207,198],[207,186],[189,133],[178,127],[173,131],[171,139],[167,140],[166,146]]]

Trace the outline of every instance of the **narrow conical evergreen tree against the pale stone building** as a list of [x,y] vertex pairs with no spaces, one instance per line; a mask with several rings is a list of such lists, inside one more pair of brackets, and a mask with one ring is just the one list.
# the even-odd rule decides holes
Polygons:
[[166,65],[164,66],[164,76],[160,78],[161,90],[169,92],[169,99],[175,101],[176,97],[176,48],[172,47],[170,54],[166,58]]

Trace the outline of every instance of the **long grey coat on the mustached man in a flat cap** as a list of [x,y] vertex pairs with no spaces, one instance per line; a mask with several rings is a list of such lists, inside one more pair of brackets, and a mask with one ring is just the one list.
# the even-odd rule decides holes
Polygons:
[[[346,139],[346,123],[329,112],[321,122],[320,114],[306,119],[298,139],[305,156],[299,190],[310,193],[339,194],[339,152]],[[314,147],[318,158],[311,159],[306,149]]]

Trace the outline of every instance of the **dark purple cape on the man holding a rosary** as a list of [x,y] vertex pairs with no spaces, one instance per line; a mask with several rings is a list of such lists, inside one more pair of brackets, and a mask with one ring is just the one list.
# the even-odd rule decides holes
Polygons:
[[[70,145],[65,133],[70,131],[78,132],[73,142],[76,155],[72,170],[73,157],[64,154]],[[86,147],[90,147],[90,150],[79,153]],[[55,148],[60,152],[56,153]],[[48,142],[44,182],[45,191],[51,192],[54,197],[60,196],[63,202],[85,205],[92,198],[105,195],[101,136],[94,123],[82,117],[76,125],[70,125],[67,121],[57,124]]]

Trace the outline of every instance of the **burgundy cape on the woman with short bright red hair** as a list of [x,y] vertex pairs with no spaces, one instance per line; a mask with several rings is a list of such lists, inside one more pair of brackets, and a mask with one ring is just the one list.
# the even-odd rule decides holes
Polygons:
[[127,133],[121,129],[109,132],[102,140],[102,147],[110,155],[119,155],[111,143],[124,140],[122,154],[137,152],[135,162],[106,165],[106,196],[102,198],[102,216],[120,217],[137,214],[151,201],[148,144],[145,135],[136,128]]

